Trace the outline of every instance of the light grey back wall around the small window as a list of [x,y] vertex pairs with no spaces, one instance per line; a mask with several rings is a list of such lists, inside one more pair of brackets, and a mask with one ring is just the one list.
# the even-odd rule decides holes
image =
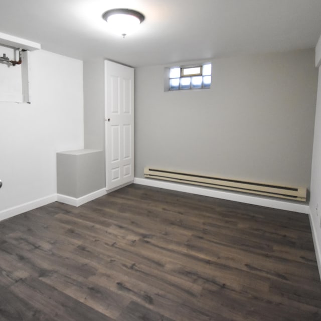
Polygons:
[[310,185],[314,50],[212,60],[211,89],[164,91],[164,70],[135,71],[135,177],[143,168]]

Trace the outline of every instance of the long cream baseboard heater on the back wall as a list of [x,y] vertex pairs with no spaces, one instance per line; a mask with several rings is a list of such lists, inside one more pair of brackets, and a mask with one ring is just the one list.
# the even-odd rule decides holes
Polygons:
[[156,180],[200,185],[217,189],[277,197],[282,199],[290,199],[303,202],[306,200],[306,188],[247,182],[234,179],[225,179],[221,177],[210,177],[177,171],[167,171],[149,167],[145,167],[144,176],[145,178]]

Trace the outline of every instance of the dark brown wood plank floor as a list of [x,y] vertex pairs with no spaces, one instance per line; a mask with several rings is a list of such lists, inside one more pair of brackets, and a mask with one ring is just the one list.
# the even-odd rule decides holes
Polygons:
[[321,320],[308,216],[131,185],[0,222],[0,320]]

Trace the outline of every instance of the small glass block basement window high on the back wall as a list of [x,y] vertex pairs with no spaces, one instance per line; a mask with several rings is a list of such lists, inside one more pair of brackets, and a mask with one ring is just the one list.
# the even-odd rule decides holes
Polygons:
[[169,90],[211,88],[212,64],[172,67],[169,72]]

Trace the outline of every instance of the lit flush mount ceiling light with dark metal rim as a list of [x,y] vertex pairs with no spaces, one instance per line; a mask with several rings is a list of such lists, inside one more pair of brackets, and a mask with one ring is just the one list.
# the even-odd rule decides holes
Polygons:
[[140,12],[131,9],[111,9],[106,11],[102,18],[106,20],[112,30],[121,34],[124,38],[145,19]]

